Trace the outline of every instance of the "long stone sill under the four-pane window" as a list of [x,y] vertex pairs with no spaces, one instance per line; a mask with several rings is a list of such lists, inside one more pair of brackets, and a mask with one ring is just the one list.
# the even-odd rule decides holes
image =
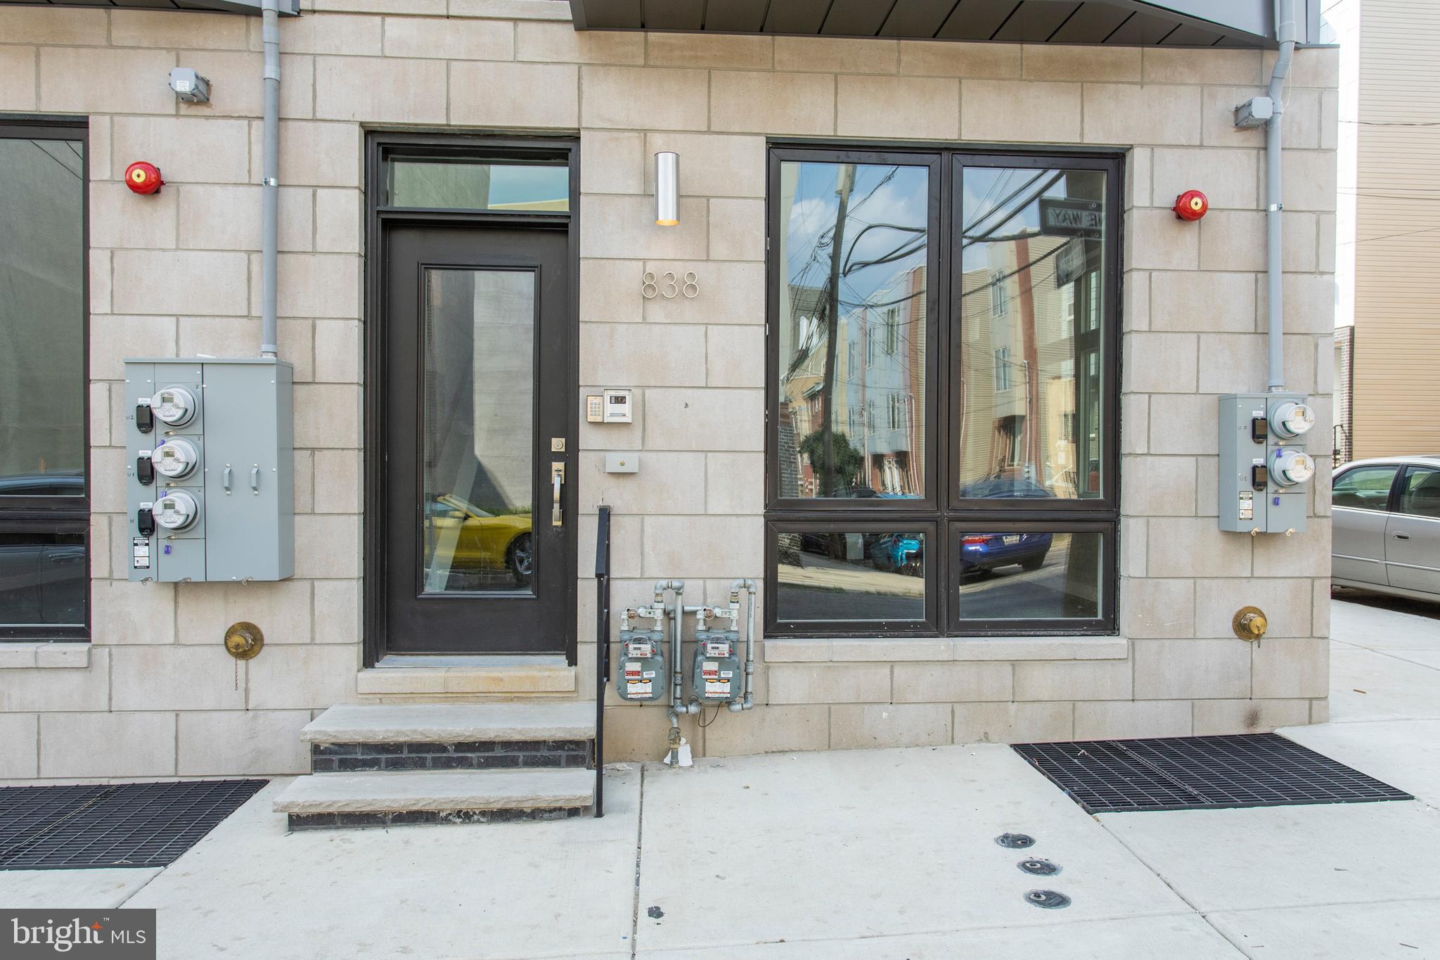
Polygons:
[[1123,636],[973,636],[973,638],[776,638],[765,640],[768,664],[883,661],[1123,661]]

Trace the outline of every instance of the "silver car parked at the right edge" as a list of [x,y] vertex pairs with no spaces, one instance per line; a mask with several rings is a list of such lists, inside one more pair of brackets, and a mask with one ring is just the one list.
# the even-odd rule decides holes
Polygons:
[[1331,514],[1331,583],[1440,600],[1440,455],[1346,463]]

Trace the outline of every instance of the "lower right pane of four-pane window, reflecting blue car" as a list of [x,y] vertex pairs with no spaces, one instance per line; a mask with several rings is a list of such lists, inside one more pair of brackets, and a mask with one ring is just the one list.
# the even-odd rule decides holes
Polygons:
[[1097,533],[978,533],[955,537],[962,620],[1100,616]]

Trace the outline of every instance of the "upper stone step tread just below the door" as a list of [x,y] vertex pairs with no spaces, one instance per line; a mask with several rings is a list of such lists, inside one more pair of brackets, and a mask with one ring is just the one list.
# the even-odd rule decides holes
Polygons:
[[300,734],[311,744],[593,740],[595,704],[343,704]]

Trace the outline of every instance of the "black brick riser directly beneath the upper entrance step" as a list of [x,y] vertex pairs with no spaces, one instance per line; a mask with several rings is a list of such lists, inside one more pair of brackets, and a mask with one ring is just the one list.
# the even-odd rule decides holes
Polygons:
[[516,770],[588,767],[589,740],[495,740],[471,743],[317,743],[312,773],[374,770]]

